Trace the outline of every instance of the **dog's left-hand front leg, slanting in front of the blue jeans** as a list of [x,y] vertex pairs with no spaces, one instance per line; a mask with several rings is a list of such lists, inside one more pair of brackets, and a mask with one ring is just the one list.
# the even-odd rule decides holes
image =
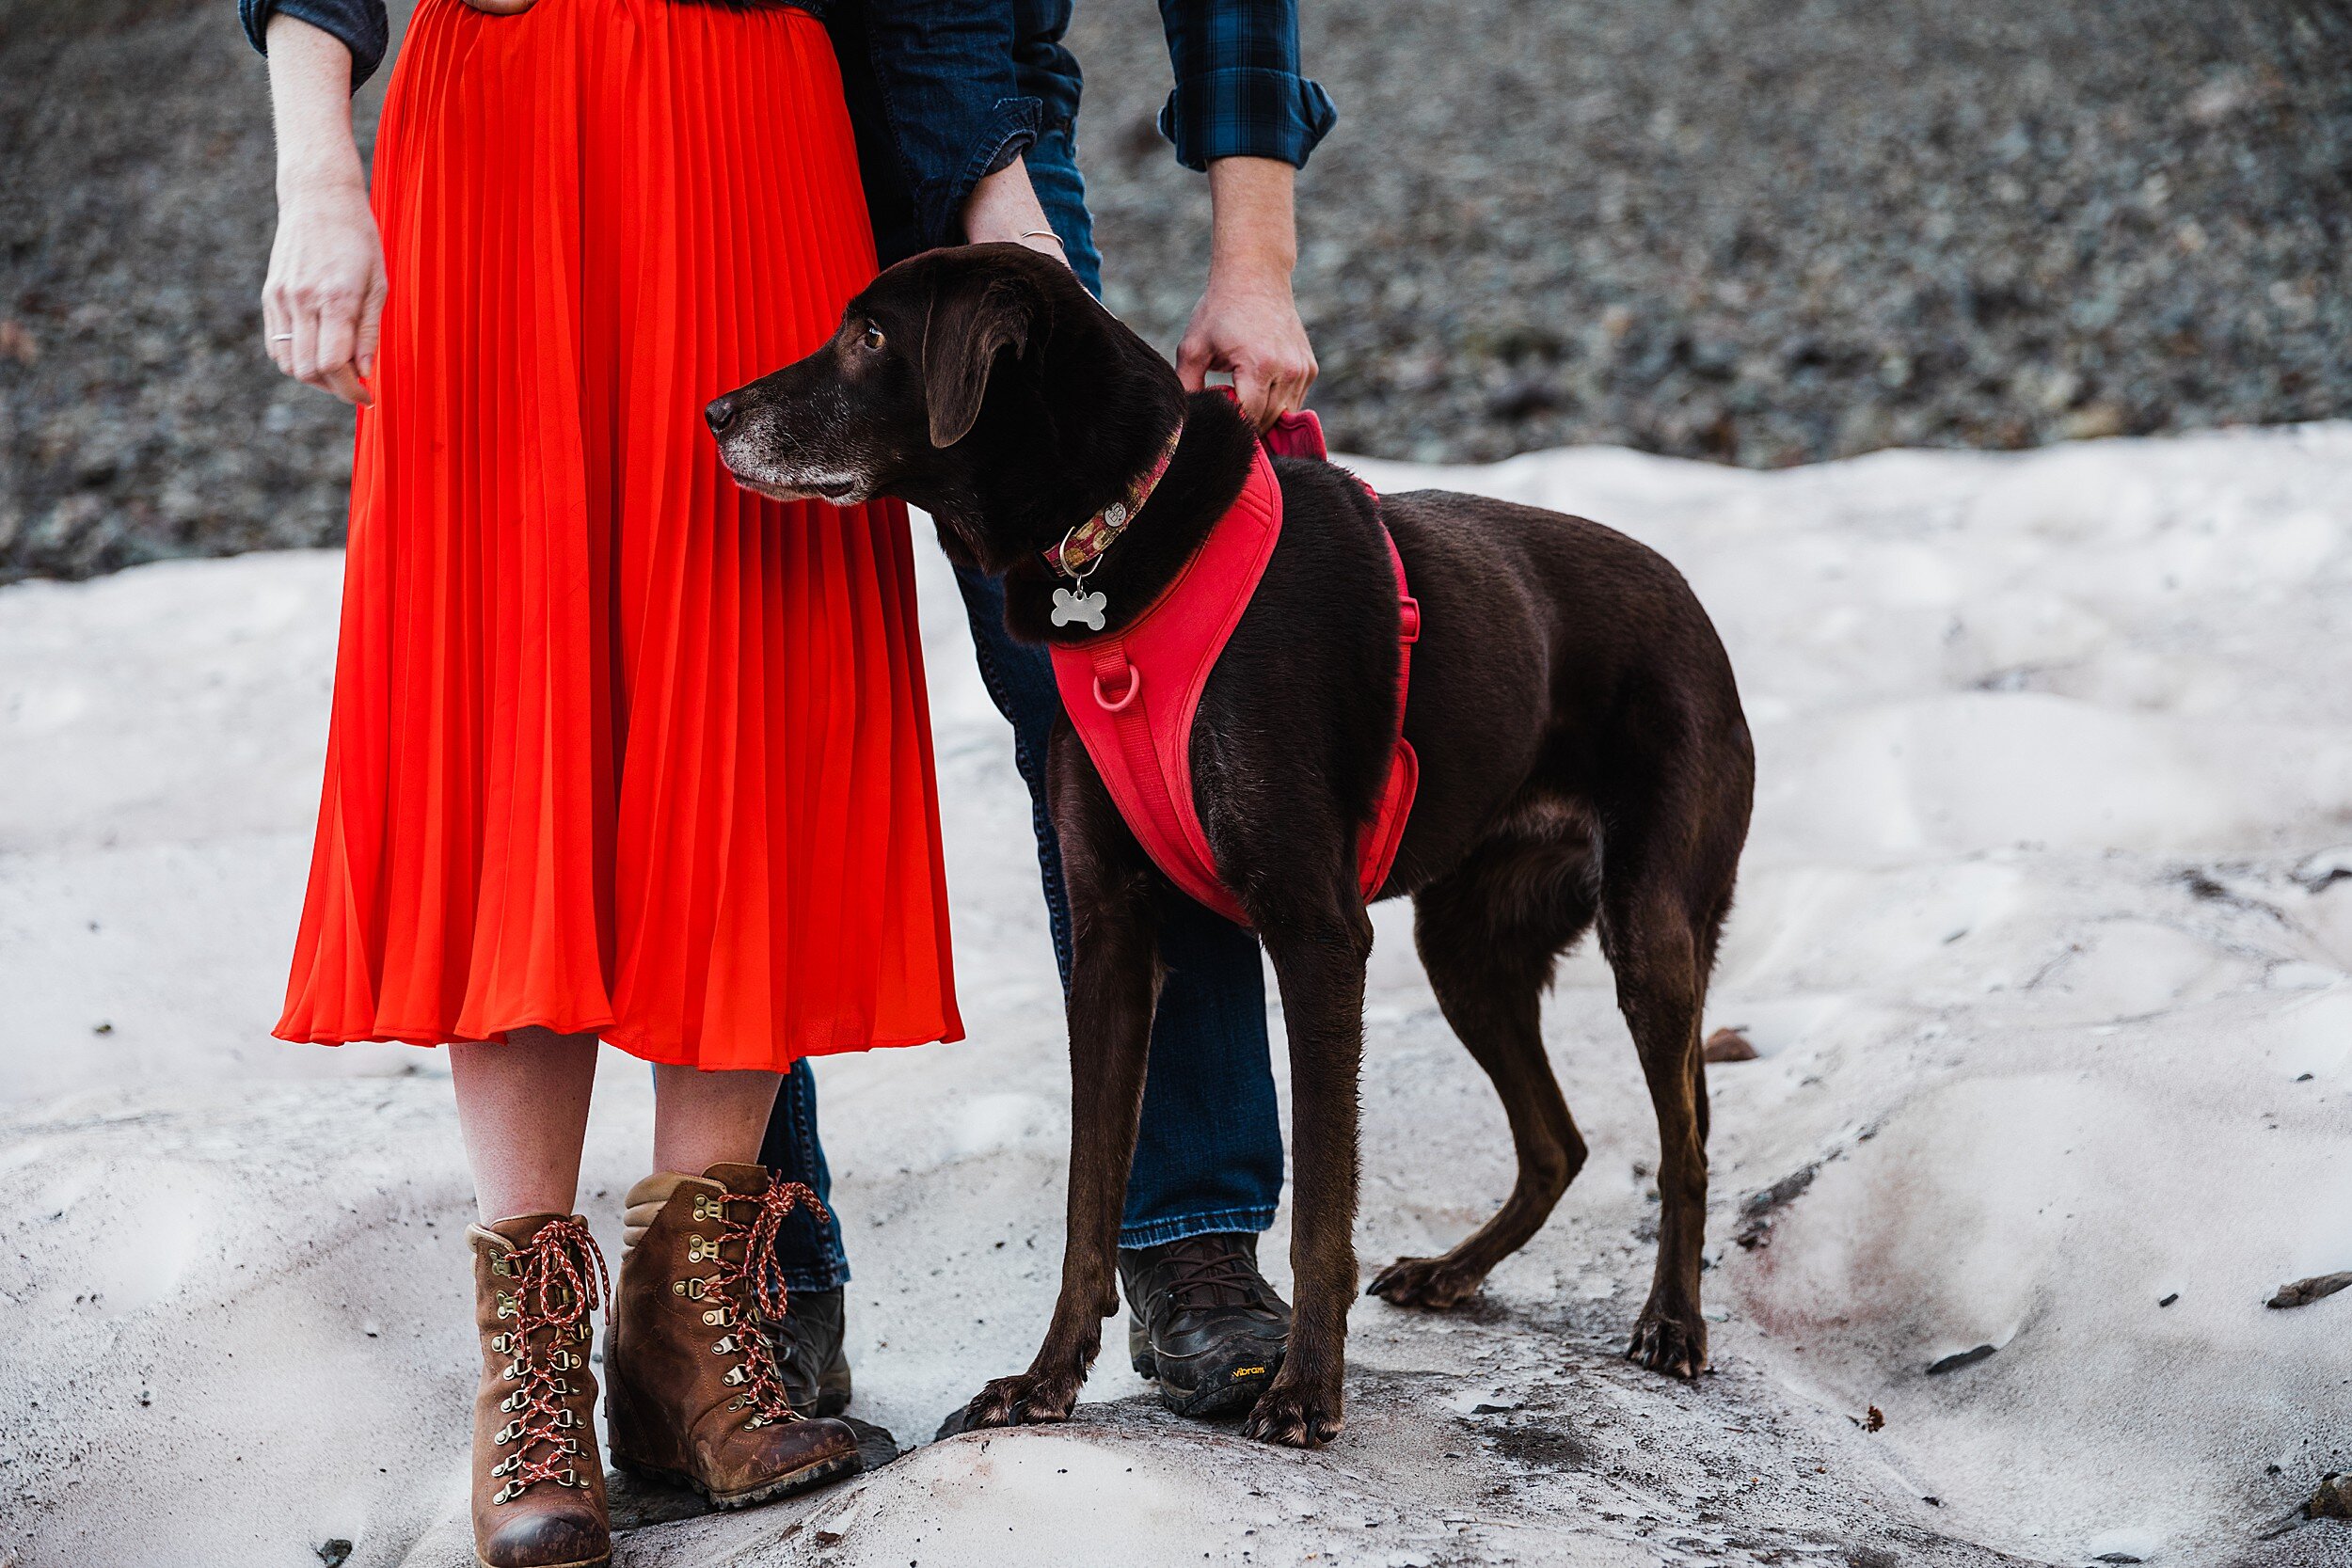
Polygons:
[[1152,870],[1063,724],[1051,755],[1054,827],[1070,889],[1070,1208],[1061,1295],[1037,1359],[964,1406],[962,1425],[1068,1420],[1120,1309],[1120,1211],[1136,1157],[1157,999]]

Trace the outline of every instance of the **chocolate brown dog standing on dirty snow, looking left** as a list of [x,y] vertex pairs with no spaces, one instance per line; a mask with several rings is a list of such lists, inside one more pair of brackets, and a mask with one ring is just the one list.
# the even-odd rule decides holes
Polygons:
[[[1004,576],[1011,630],[1030,642],[1094,635],[1049,625],[1063,578],[1044,552],[1148,473],[1178,418],[1167,477],[1087,578],[1112,630],[1240,494],[1256,437],[1223,397],[1188,400],[1056,261],[1014,244],[903,261],[849,301],[830,343],[708,409],[750,489],[844,505],[903,496],[931,512],[953,557]],[[1665,559],[1599,524],[1444,491],[1374,501],[1327,463],[1275,470],[1282,543],[1192,731],[1216,867],[1272,957],[1291,1046],[1296,1321],[1247,1432],[1312,1448],[1341,1427],[1371,952],[1355,837],[1388,771],[1397,701],[1383,524],[1423,632],[1404,715],[1421,795],[1381,896],[1414,896],[1430,985],[1503,1098],[1519,1178],[1477,1234],[1442,1258],[1399,1258],[1371,1293],[1468,1300],[1583,1166],[1538,1009],[1559,952],[1597,926],[1658,1112],[1663,1229],[1630,1354],[1693,1378],[1708,1363],[1698,1018],[1755,783],[1724,646]],[[1037,1359],[981,1389],[967,1427],[1068,1418],[1120,1307],[1155,912],[1181,896],[1120,820],[1068,719],[1049,776],[1077,936],[1070,1232]]]

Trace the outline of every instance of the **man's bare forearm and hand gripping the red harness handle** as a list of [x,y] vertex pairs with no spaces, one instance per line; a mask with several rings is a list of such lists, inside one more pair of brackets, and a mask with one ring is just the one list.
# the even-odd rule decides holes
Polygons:
[[1216,230],[1209,289],[1192,310],[1176,374],[1197,393],[1209,371],[1232,374],[1232,393],[1261,430],[1305,404],[1315,386],[1315,348],[1291,299],[1298,230],[1291,183],[1298,172],[1275,158],[1218,158],[1209,165]]

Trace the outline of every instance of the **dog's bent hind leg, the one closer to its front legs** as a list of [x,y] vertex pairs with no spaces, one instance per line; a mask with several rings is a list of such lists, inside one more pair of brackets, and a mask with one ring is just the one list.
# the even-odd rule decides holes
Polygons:
[[1477,1232],[1442,1258],[1397,1258],[1369,1295],[1399,1307],[1458,1307],[1486,1272],[1526,1246],[1585,1164],[1559,1079],[1543,1053],[1552,961],[1592,924],[1590,856],[1501,839],[1414,900],[1414,945],[1446,1023],[1494,1079],[1519,1175]]

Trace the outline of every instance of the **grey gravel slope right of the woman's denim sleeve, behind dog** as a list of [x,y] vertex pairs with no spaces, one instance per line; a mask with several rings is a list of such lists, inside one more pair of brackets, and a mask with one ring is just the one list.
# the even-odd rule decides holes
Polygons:
[[[2352,397],[2352,24],[2176,0],[1308,0],[1301,306],[1350,451],[1783,465]],[[1152,7],[1080,7],[1112,303],[1207,197]]]

